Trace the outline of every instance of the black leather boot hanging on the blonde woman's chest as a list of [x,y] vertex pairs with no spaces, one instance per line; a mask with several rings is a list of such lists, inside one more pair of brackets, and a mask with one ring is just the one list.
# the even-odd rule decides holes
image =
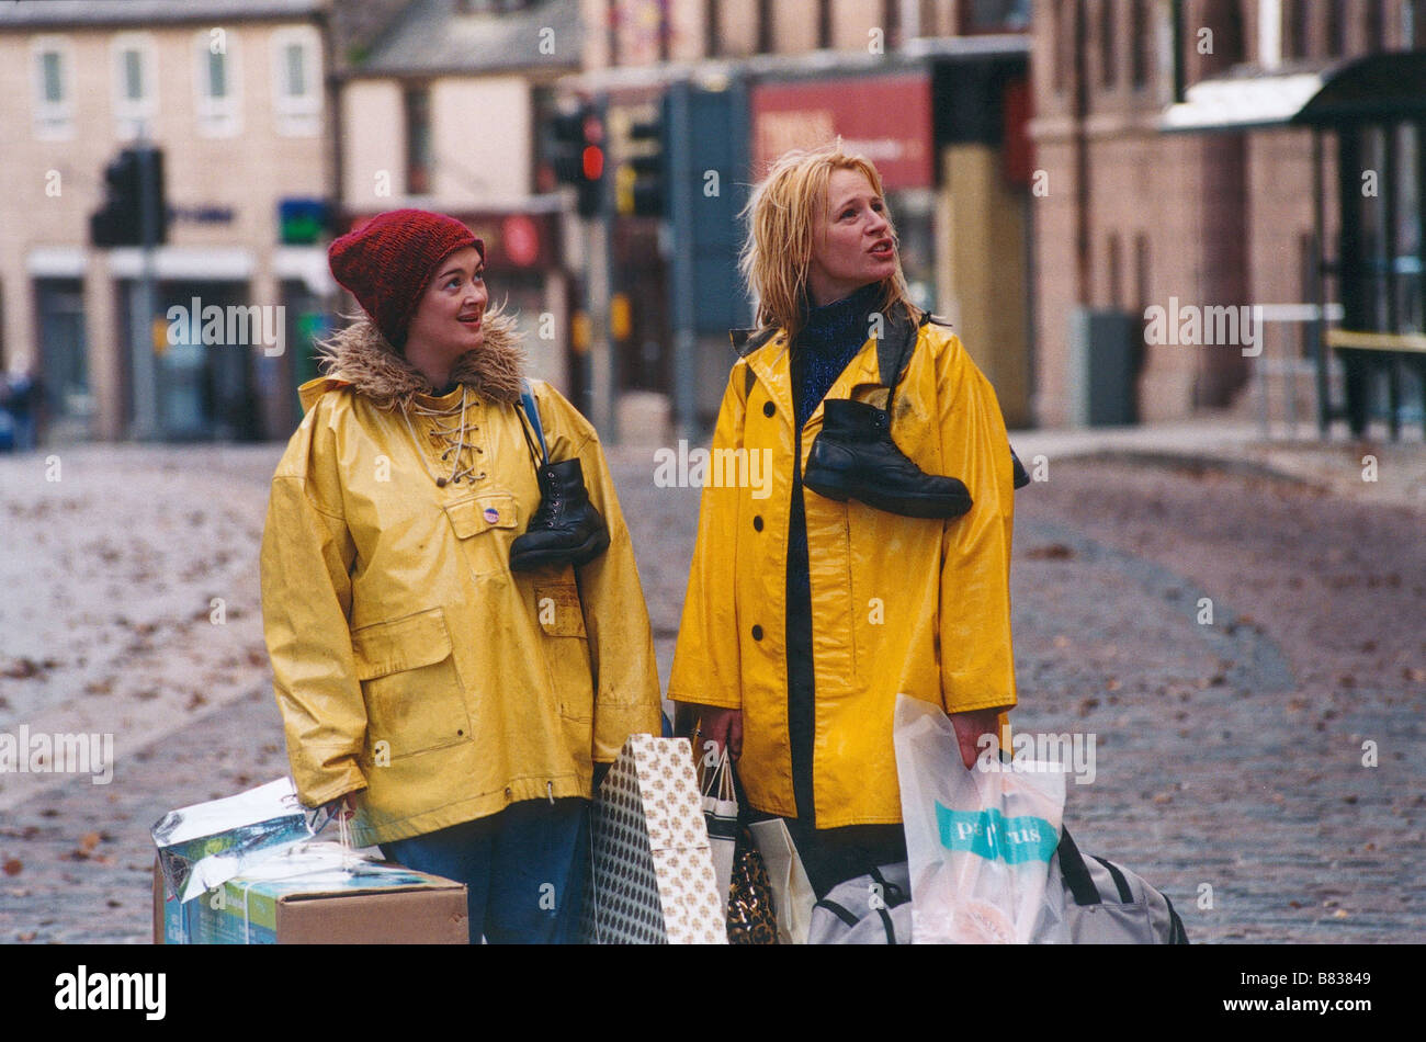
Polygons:
[[858,499],[906,517],[960,517],[971,493],[958,478],[928,475],[891,440],[891,415],[866,402],[829,398],[803,485],[820,496]]

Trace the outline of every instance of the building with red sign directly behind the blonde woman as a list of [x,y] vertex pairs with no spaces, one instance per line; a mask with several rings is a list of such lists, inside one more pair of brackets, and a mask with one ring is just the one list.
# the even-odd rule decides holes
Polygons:
[[[950,318],[1007,422],[1030,422],[1028,0],[583,0],[583,14],[585,73],[570,90],[627,108],[626,121],[647,118],[674,83],[736,96],[749,164],[726,180],[746,188],[787,148],[838,135],[877,163],[913,296]],[[620,383],[666,389],[682,368],[707,421],[732,362],[726,336],[700,328],[692,349],[674,348],[693,355],[680,365],[666,356],[677,334],[637,322],[666,318],[667,261],[683,244],[665,238],[660,255],[649,218],[626,215],[615,238],[612,284],[636,315],[615,348]]]

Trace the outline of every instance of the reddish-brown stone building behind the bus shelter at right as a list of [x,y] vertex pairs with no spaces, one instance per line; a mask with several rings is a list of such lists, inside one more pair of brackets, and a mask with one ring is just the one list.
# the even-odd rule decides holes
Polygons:
[[[1417,0],[1038,0],[1037,419],[1074,419],[1077,311],[1142,324],[1152,308],[1291,315],[1312,301],[1318,261],[1339,254],[1343,172],[1295,113],[1333,70],[1423,46]],[[1415,180],[1397,185],[1415,192]],[[1419,200],[1403,201],[1402,214],[1419,214]],[[1141,419],[1245,408],[1256,348],[1144,332]],[[1308,351],[1305,324],[1263,332],[1285,336],[1289,356]]]

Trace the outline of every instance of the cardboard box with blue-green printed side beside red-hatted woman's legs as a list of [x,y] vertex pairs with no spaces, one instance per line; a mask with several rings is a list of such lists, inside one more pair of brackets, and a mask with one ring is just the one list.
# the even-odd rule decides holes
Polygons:
[[342,870],[331,847],[295,847],[187,902],[155,864],[154,944],[469,944],[463,884],[376,861]]

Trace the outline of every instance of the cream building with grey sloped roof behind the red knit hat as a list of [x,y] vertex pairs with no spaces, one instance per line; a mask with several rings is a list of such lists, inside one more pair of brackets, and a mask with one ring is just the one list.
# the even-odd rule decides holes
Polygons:
[[398,207],[463,220],[532,371],[566,393],[580,258],[540,128],[582,48],[575,0],[415,0],[339,86],[344,227]]

